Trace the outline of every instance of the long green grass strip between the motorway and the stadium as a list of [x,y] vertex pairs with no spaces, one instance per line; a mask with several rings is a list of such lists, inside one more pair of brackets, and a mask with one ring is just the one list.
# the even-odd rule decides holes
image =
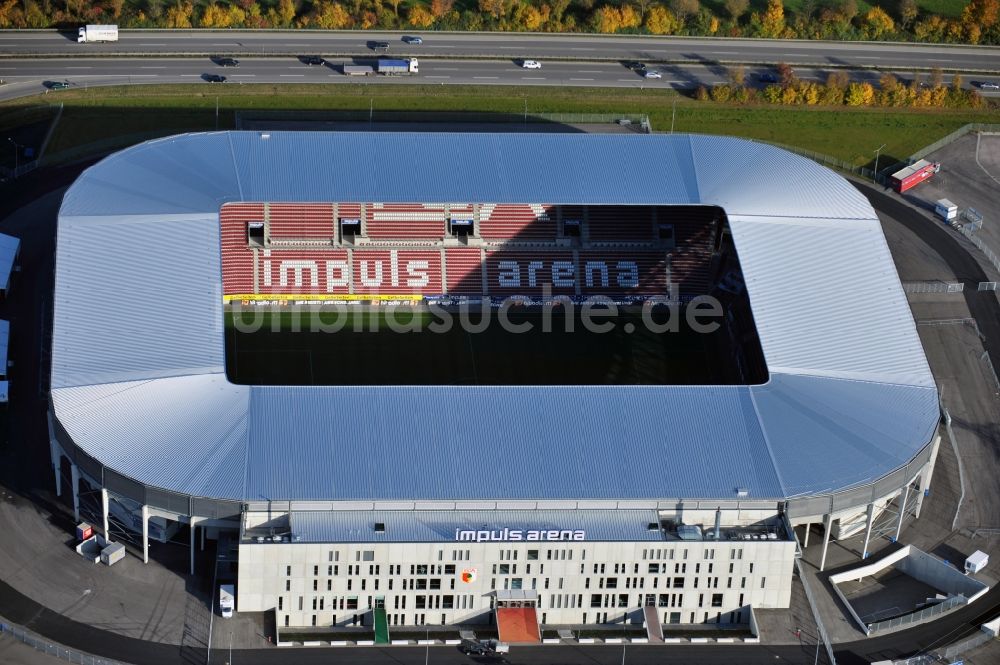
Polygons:
[[[219,94],[215,94],[219,93]],[[51,104],[53,95],[0,105],[0,125],[28,106]],[[108,152],[152,138],[184,131],[235,126],[236,111],[385,111],[522,114],[614,113],[650,116],[654,130],[669,131],[676,102],[675,131],[728,134],[775,141],[864,164],[886,144],[883,157],[903,157],[968,122],[995,122],[983,111],[822,109],[773,106],[724,106],[699,103],[671,91],[607,88],[509,88],[431,85],[240,85],[224,90],[205,86],[123,86],[69,90],[52,138],[50,163],[88,153]],[[218,118],[216,104],[218,103]],[[432,118],[431,118],[432,119]]]

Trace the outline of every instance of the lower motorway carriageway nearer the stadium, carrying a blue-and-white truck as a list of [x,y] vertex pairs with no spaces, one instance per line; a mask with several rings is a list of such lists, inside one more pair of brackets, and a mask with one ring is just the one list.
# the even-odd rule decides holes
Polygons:
[[[370,57],[370,56],[369,56]],[[221,67],[207,56],[191,58],[38,58],[0,60],[0,99],[45,92],[55,81],[67,82],[70,88],[89,88],[100,85],[151,84],[151,83],[208,83],[208,74],[227,77],[223,85],[245,83],[392,83],[422,84],[471,84],[517,86],[595,86],[642,89],[691,89],[699,85],[711,87],[727,81],[727,68],[718,65],[653,65],[650,69],[661,72],[662,78],[648,79],[630,70],[622,62],[592,61],[543,61],[541,69],[524,69],[514,60],[438,60],[420,59],[420,72],[411,76],[345,76],[341,66],[361,58],[331,60],[322,66],[303,64],[298,58],[254,57],[241,58],[239,67]],[[762,85],[759,74],[771,72],[766,66],[747,67],[751,84]],[[798,67],[796,75],[804,80],[825,81],[830,70],[825,68]],[[909,80],[912,71],[898,70],[901,79]],[[850,72],[852,80],[877,82],[881,72],[858,70]],[[962,74],[966,87],[974,85],[974,73]],[[924,75],[924,80],[928,80]],[[945,75],[945,81],[951,76]],[[998,77],[1000,80],[1000,77]],[[59,94],[59,91],[52,91]],[[1000,92],[987,93],[1000,96]]]

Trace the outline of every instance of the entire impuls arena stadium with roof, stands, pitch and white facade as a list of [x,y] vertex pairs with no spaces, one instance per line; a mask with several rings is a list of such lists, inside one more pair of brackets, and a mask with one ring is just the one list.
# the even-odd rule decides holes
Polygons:
[[742,139],[149,141],[66,193],[54,301],[57,488],[279,626],[747,624],[937,452],[874,210]]

